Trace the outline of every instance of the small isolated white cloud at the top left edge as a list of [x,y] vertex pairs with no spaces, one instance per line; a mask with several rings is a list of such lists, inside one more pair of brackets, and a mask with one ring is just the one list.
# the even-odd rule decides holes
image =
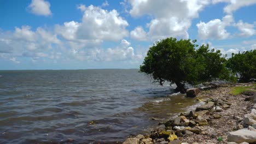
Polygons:
[[44,0],[32,0],[31,4],[28,5],[28,10],[36,15],[49,16],[51,15],[50,3]]

